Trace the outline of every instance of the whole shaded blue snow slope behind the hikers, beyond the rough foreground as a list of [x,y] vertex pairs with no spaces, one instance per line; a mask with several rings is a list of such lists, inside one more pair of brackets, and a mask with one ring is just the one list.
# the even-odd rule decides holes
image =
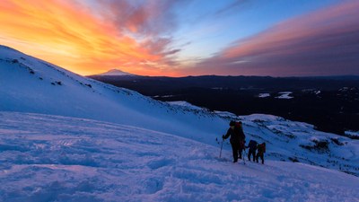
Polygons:
[[[0,46],[0,111],[101,120],[212,146],[219,146],[219,138],[226,132],[230,119],[241,119],[248,142],[250,139],[267,142],[267,159],[304,162],[359,176],[357,140],[270,115],[235,117],[188,104],[154,101],[3,46]],[[228,141],[223,149],[231,150]],[[230,157],[231,154],[227,155]]]

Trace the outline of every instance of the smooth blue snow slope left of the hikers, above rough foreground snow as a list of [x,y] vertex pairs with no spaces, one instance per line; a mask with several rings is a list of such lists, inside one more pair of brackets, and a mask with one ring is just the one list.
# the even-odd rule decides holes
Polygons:
[[227,126],[210,113],[154,101],[6,47],[0,47],[0,96],[0,110],[105,120],[197,139]]

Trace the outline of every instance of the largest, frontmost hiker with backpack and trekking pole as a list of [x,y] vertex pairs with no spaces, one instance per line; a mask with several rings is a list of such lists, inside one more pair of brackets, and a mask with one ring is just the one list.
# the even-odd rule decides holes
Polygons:
[[244,133],[243,128],[240,122],[231,121],[230,128],[227,130],[227,134],[223,135],[223,139],[227,139],[229,136],[230,143],[232,145],[232,155],[233,155],[233,162],[238,162],[238,154],[240,154],[241,158],[241,150],[244,148]]

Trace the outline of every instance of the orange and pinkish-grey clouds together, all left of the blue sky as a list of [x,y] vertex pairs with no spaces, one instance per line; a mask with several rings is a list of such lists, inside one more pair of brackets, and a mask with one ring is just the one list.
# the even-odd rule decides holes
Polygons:
[[150,8],[127,1],[104,3],[101,11],[112,9],[111,18],[81,2],[1,1],[0,43],[82,75],[114,67],[139,75],[161,74],[180,49],[169,48],[171,38],[159,37],[173,19],[171,13],[162,13],[168,16],[163,23],[150,20],[162,18],[155,9],[169,9],[171,1],[145,5]]

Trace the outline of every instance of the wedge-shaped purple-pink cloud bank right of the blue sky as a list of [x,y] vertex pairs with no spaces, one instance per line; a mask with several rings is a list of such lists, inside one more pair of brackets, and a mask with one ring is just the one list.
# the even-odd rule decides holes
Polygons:
[[186,75],[359,75],[359,2],[346,1],[238,40]]

